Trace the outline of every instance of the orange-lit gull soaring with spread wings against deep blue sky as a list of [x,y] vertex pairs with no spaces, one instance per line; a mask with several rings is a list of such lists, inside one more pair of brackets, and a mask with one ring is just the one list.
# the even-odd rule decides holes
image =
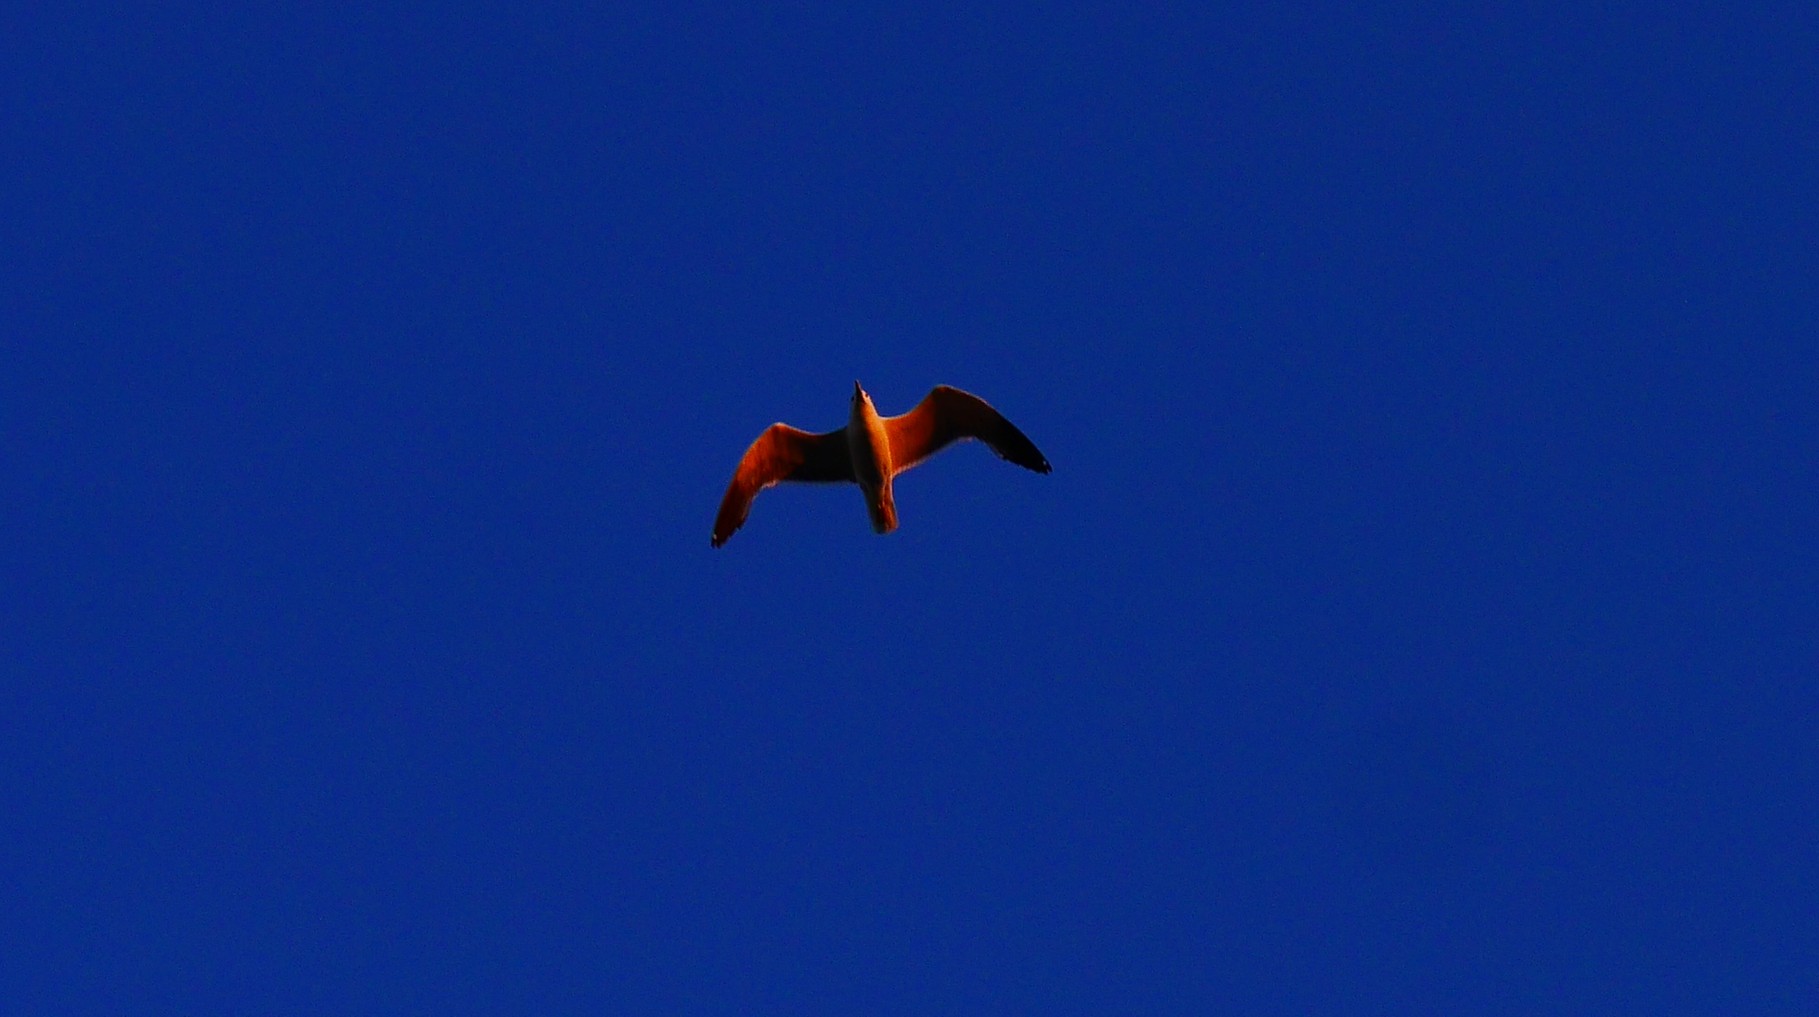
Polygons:
[[815,435],[771,424],[751,442],[733,471],[713,520],[713,546],[726,544],[751,513],[759,491],[782,480],[859,484],[875,533],[897,529],[891,480],[937,451],[979,438],[999,458],[1048,473],[1048,457],[986,400],[953,386],[935,386],[902,417],[879,417],[866,389],[853,382],[851,413],[839,431]]

